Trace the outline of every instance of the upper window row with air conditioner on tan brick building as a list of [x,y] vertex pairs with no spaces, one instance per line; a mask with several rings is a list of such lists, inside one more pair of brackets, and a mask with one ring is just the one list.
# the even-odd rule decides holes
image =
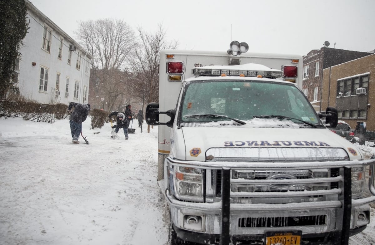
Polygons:
[[353,78],[343,79],[337,81],[337,95],[341,96],[352,96],[357,95],[357,88],[365,88],[368,93],[369,87],[369,75],[355,76]]

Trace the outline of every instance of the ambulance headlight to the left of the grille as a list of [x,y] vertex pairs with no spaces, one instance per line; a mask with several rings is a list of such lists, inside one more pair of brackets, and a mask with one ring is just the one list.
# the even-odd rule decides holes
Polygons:
[[174,166],[173,188],[178,199],[203,202],[202,169]]

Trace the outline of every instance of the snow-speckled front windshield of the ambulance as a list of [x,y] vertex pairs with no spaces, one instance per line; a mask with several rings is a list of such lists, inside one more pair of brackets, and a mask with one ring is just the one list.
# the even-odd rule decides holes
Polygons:
[[[182,122],[212,122],[260,116],[296,118],[294,123],[321,124],[303,93],[293,84],[268,81],[192,81],[182,98]],[[192,115],[224,115],[197,117]],[[284,116],[284,117],[282,117]],[[263,117],[269,118],[269,117]]]

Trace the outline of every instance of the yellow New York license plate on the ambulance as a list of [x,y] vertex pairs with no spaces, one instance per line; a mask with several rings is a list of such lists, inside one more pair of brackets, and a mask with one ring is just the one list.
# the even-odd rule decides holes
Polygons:
[[302,231],[266,232],[266,245],[301,245]]

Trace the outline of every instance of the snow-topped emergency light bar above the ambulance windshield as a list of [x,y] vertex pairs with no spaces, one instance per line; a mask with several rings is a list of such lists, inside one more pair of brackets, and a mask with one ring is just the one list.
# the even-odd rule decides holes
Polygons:
[[266,78],[281,78],[281,70],[276,70],[261,64],[242,64],[236,66],[202,66],[192,69],[196,76],[262,76]]

